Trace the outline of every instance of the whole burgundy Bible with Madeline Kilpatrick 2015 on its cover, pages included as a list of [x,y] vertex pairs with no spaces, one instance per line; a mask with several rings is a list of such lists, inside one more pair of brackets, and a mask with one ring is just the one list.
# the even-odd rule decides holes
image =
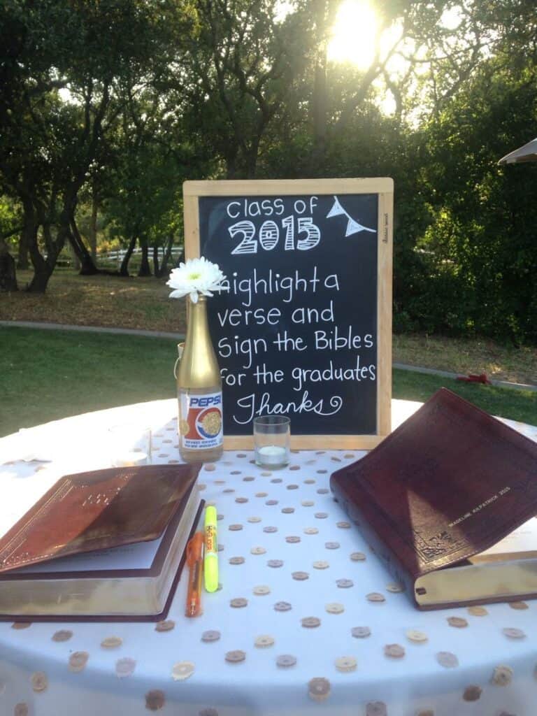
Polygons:
[[450,390],[330,486],[420,609],[537,597],[537,444]]

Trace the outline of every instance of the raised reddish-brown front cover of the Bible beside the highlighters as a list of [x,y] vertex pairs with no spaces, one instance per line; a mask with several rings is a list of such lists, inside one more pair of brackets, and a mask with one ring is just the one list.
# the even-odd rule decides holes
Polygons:
[[199,470],[143,465],[64,475],[0,539],[0,573],[160,537]]

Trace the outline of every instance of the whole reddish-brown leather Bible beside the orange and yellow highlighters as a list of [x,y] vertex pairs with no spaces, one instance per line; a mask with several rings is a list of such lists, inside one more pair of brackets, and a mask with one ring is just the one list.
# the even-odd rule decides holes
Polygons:
[[0,621],[157,621],[203,500],[197,465],[66,475],[0,541]]

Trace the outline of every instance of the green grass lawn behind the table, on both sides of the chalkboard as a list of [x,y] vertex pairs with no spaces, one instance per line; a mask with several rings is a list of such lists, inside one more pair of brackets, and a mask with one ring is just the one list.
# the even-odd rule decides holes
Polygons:
[[[175,396],[170,339],[0,327],[0,436],[60,417]],[[537,392],[395,370],[393,395],[450,388],[493,415],[537,422]]]

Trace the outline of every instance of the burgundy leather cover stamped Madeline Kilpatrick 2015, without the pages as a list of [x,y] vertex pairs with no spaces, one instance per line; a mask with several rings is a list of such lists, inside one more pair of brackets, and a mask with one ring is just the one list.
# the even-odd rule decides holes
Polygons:
[[392,571],[415,580],[536,515],[537,444],[442,388],[330,485]]

